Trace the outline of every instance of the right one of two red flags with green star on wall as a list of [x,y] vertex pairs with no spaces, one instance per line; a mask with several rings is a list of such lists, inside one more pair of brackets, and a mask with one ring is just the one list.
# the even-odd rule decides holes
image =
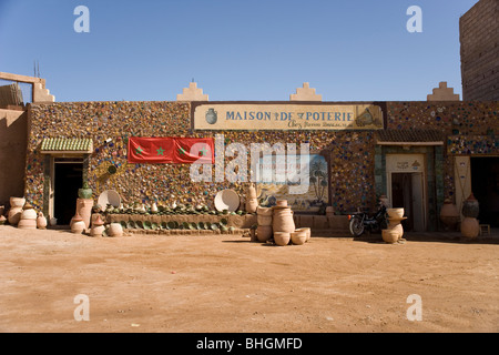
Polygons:
[[179,164],[213,164],[215,162],[212,138],[175,138],[173,162]]

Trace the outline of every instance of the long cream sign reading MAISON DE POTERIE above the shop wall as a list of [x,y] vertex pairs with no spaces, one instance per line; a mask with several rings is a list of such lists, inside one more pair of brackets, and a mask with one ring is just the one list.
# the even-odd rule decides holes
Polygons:
[[379,130],[374,104],[203,103],[194,108],[194,130]]

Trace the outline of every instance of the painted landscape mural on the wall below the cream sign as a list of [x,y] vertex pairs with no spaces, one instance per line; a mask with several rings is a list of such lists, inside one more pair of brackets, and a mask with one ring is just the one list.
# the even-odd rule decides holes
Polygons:
[[[273,163],[274,164],[274,163]],[[297,166],[299,169],[299,166]],[[262,171],[272,169],[275,165],[266,166],[263,159],[259,161]],[[261,181],[258,171],[256,181]],[[329,202],[328,196],[328,174],[327,163],[323,155],[310,154],[309,159],[309,184],[306,192],[301,194],[289,193],[289,185],[296,184],[292,181],[295,179],[288,175],[286,182],[257,182],[256,192],[261,205],[274,206],[277,200],[287,200],[289,206],[295,212],[318,212]]]

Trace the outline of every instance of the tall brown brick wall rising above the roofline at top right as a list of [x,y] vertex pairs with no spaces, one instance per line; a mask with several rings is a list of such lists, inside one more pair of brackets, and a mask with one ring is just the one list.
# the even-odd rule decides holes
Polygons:
[[464,100],[499,99],[499,1],[480,0],[459,19]]

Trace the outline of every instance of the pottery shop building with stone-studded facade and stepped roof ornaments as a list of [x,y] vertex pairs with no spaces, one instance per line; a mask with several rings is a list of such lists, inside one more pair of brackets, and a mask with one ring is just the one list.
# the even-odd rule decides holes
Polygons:
[[[68,224],[78,189],[86,181],[96,200],[116,191],[124,204],[192,203],[213,206],[216,193],[244,196],[248,182],[193,182],[190,164],[131,163],[132,138],[223,136],[232,143],[309,144],[308,191],[258,183],[261,201],[286,199],[296,215],[374,211],[381,195],[405,207],[407,231],[441,230],[446,199],[458,206],[473,192],[480,223],[499,226],[499,132],[496,101],[458,101],[441,83],[428,101],[323,102],[308,84],[289,101],[210,102],[195,83],[184,98],[165,102],[55,102],[30,104],[26,197],[45,215]],[[301,92],[301,89],[303,91]],[[451,91],[451,89],[450,89]],[[218,151],[217,151],[218,149]],[[251,154],[247,154],[249,169]],[[224,164],[234,156],[225,154]],[[241,156],[240,156],[241,159]]]

